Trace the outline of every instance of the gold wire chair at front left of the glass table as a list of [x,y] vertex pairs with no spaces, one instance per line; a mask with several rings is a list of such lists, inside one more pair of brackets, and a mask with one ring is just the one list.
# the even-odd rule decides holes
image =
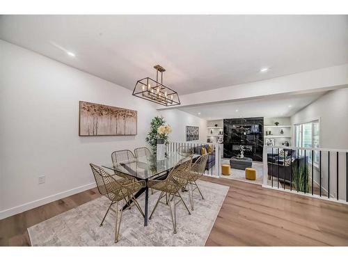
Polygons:
[[[118,235],[120,234],[120,224],[122,221],[122,208],[123,205],[125,205],[122,204],[122,202],[127,203],[129,200],[132,200],[134,205],[136,205],[136,208],[139,209],[139,212],[144,217],[143,210],[141,209],[136,198],[134,198],[134,193],[145,187],[146,182],[144,180],[132,182],[132,180],[122,177],[117,179],[117,175],[111,175],[104,171],[103,168],[95,164],[90,164],[90,168],[92,169],[99,193],[106,198],[109,198],[111,201],[109,208],[106,210],[104,218],[102,219],[102,223],[100,223],[100,226],[103,226],[103,222],[106,215],[109,213],[109,210],[115,213],[115,243],[117,243]],[[113,205],[115,205],[114,209],[112,208]]]

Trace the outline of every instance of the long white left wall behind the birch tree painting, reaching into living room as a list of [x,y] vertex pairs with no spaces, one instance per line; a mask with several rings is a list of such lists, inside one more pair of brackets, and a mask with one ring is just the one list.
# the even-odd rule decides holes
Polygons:
[[[0,219],[95,187],[88,164],[146,145],[158,114],[172,125],[171,140],[184,141],[186,125],[205,138],[205,120],[189,113],[157,112],[126,88],[2,40],[0,51]],[[138,111],[138,134],[80,137],[79,100]]]

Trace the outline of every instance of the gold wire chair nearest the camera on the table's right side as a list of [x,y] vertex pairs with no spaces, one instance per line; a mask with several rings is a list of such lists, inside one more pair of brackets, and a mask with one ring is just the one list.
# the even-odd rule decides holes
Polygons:
[[[171,172],[166,177],[166,180],[148,180],[149,188],[161,191],[149,219],[151,219],[152,214],[154,214],[158,204],[163,203],[161,202],[161,199],[166,198],[164,204],[168,205],[169,209],[171,210],[174,234],[176,234],[176,205],[182,202],[184,207],[186,207],[187,212],[189,212],[189,215],[191,215],[189,208],[179,193],[179,190],[182,189],[182,187],[185,187],[187,182],[189,182],[188,176],[190,173],[191,161],[192,155],[178,161],[175,167],[172,168]],[[175,198],[179,198],[179,200],[176,202]]]

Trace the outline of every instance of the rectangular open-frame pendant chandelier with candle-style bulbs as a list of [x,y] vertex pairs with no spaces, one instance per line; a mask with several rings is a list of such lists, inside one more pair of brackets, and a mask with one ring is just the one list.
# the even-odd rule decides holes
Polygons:
[[[155,65],[154,68],[156,69],[156,81],[150,77],[136,81],[133,95],[164,106],[179,105],[180,99],[177,92],[163,85],[163,72],[166,69],[161,65]],[[159,72],[161,73],[161,82],[158,79]]]

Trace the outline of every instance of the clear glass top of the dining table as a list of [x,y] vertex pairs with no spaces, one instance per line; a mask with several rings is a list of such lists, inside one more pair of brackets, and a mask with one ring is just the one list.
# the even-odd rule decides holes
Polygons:
[[[199,156],[193,155],[193,159]],[[163,160],[157,160],[156,155],[154,155],[150,157],[139,157],[138,159],[124,163],[120,162],[116,166],[113,166],[113,164],[104,164],[102,166],[112,171],[136,177],[137,179],[146,180],[159,174],[165,174],[166,171],[171,170],[177,164],[177,161],[184,158],[187,158],[187,155],[173,152]]]

